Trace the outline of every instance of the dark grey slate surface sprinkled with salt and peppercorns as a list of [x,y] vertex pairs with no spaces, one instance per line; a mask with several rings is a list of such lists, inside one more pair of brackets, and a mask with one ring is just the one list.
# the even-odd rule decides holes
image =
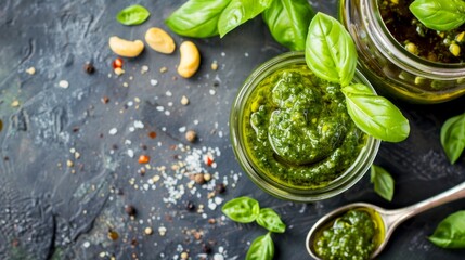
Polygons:
[[[261,192],[235,161],[228,126],[231,103],[246,76],[286,51],[260,18],[221,40],[194,39],[203,61],[192,79],[178,78],[178,52],[164,55],[150,49],[125,58],[126,74],[113,74],[116,55],[108,37],[143,39],[152,26],[166,28],[163,21],[182,2],[0,2],[0,259],[180,259],[183,251],[191,259],[243,259],[264,230],[233,223],[219,209],[242,195],[272,207],[287,224],[285,234],[273,235],[275,259],[309,259],[307,232],[331,209],[352,202],[403,207],[464,181],[465,157],[454,166],[448,162],[439,128],[464,112],[465,99],[430,106],[396,102],[411,120],[411,136],[383,143],[376,158],[396,179],[392,203],[374,194],[369,176],[315,204],[283,202]],[[317,10],[336,14],[334,0],[312,2]],[[151,11],[150,20],[134,27],[118,24],[116,13],[134,3]],[[184,40],[171,35],[178,46]],[[210,69],[214,61],[216,72]],[[95,74],[83,72],[86,62],[94,64]],[[150,67],[145,74],[143,65]],[[29,67],[35,75],[26,73]],[[168,70],[160,73],[162,67]],[[69,88],[60,88],[61,80]],[[190,99],[188,106],[180,104],[183,95]],[[103,104],[105,96],[109,101]],[[198,134],[194,144],[184,139],[189,129]],[[208,153],[212,167],[202,159]],[[143,176],[141,154],[151,156]],[[189,176],[198,172],[211,173],[212,180],[192,185]],[[225,193],[209,198],[218,183],[227,184]],[[186,209],[188,202],[194,210]],[[125,212],[126,205],[135,208],[135,218]],[[455,202],[408,220],[379,259],[463,259],[464,250],[439,249],[426,237],[440,220],[464,208],[465,202]],[[150,236],[144,234],[147,226],[154,231]],[[111,240],[108,231],[118,239]],[[211,252],[204,253],[204,245]]]

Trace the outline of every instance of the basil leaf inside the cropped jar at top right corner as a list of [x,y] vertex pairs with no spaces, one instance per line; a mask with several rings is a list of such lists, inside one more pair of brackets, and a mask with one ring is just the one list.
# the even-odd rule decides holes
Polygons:
[[465,23],[463,0],[415,0],[409,9],[422,24],[434,30],[451,30]]

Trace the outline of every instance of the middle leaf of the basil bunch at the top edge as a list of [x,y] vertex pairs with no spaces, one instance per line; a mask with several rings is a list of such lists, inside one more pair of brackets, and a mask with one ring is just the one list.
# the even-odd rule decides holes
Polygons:
[[271,2],[272,0],[231,0],[218,21],[220,37],[259,15]]

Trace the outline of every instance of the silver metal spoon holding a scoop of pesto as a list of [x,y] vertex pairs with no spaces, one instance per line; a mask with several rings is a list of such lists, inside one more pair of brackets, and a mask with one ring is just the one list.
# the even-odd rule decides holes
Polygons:
[[431,209],[434,207],[440,206],[445,203],[450,203],[453,200],[456,200],[458,198],[465,198],[465,182],[462,184],[456,185],[455,187],[452,187],[441,194],[438,194],[431,198],[428,198],[426,200],[423,200],[421,203],[414,204],[412,206],[400,208],[400,209],[393,209],[393,210],[387,210],[384,208],[379,208],[372,204],[365,204],[365,203],[356,203],[356,204],[349,204],[344,207],[337,208],[324,217],[322,217],[309,231],[307,235],[307,251],[310,253],[311,257],[314,259],[321,259],[314,251],[313,243],[315,238],[315,234],[321,227],[324,227],[330,221],[334,220],[335,218],[344,214],[350,209],[358,208],[366,211],[372,211],[378,217],[380,220],[379,222],[384,224],[384,237],[380,239],[380,243],[378,244],[378,247],[375,249],[375,251],[372,253],[371,258],[375,258],[379,252],[385,248],[386,244],[388,243],[390,236],[392,235],[392,232],[396,230],[396,227],[402,223],[404,220],[421,213],[423,211],[426,211],[428,209]]

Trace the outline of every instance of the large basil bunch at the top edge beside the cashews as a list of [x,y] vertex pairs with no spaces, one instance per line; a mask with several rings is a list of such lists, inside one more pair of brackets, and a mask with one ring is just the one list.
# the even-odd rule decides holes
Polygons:
[[313,11],[307,0],[189,0],[167,20],[178,35],[224,37],[245,22],[263,14],[271,35],[293,51],[302,51]]

